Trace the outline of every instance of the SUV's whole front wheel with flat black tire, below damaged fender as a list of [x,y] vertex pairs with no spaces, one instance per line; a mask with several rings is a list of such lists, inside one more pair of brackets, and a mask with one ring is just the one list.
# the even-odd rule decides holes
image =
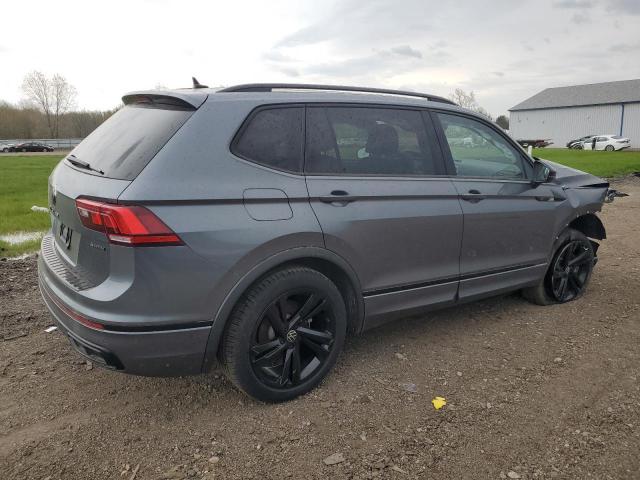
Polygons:
[[576,300],[589,284],[594,263],[595,253],[589,239],[582,232],[568,228],[554,244],[553,258],[542,282],[535,287],[523,289],[522,295],[536,305],[554,305]]

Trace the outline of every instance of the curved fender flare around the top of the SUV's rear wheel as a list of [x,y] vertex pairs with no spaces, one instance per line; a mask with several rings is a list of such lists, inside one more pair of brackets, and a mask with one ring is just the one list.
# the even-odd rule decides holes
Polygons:
[[262,262],[255,265],[251,270],[246,272],[243,277],[231,288],[227,293],[224,300],[218,307],[218,311],[213,319],[211,330],[209,332],[209,338],[207,340],[207,346],[202,363],[202,372],[208,372],[217,362],[218,349],[222,342],[222,336],[224,329],[227,325],[227,319],[231,314],[233,308],[236,306],[240,297],[256,280],[276,269],[277,267],[294,263],[295,261],[319,259],[332,263],[334,266],[342,270],[349,280],[351,281],[353,288],[356,291],[356,303],[357,303],[357,316],[356,331],[362,331],[362,325],[364,321],[364,299],[362,297],[362,287],[358,276],[356,275],[353,267],[338,254],[321,247],[296,247],[282,252],[278,252]]

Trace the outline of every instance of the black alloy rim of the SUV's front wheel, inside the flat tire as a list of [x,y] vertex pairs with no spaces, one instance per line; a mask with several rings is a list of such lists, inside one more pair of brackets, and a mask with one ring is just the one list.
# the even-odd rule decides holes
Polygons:
[[580,296],[593,268],[593,251],[583,239],[572,240],[556,255],[550,289],[557,302]]

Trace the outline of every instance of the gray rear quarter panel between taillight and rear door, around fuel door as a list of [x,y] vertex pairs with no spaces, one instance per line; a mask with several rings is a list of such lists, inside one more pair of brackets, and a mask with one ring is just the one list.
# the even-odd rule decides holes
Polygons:
[[[324,246],[304,177],[230,152],[235,132],[258,105],[238,99],[205,102],[118,199],[146,205],[201,258],[189,266],[195,269],[193,281],[185,281],[203,299],[194,308],[210,319],[255,265],[295,247]],[[256,219],[256,210],[244,203],[248,189],[254,189],[251,202],[258,211],[264,208],[264,218],[281,219]],[[270,215],[289,209],[290,215]]]

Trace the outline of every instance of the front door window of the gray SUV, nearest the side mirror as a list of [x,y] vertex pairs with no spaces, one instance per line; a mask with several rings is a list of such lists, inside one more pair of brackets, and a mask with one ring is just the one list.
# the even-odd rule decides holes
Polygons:
[[518,151],[482,122],[439,113],[456,174],[462,177],[525,178]]

